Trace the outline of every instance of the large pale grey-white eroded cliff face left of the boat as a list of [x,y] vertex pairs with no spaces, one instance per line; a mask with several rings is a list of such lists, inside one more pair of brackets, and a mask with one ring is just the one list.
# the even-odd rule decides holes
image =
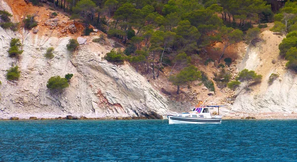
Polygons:
[[[12,38],[23,44],[19,60],[9,58]],[[113,65],[101,57],[111,46],[88,38],[86,45],[71,54],[66,49],[70,38],[54,38],[23,31],[13,33],[0,28],[0,118],[18,116],[55,118],[75,115],[86,117],[160,118],[168,113],[168,101],[129,65]],[[48,47],[54,58],[46,59]],[[6,70],[18,65],[19,81],[7,81]],[[52,93],[46,84],[50,77],[72,73],[70,85],[61,94]]]

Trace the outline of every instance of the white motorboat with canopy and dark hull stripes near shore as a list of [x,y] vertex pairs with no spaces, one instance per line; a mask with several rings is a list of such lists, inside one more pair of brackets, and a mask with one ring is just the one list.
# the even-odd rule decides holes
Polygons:
[[169,124],[180,124],[180,123],[221,123],[222,116],[212,116],[209,112],[210,107],[221,106],[201,106],[193,108],[189,113],[181,113],[177,115],[168,115]]

